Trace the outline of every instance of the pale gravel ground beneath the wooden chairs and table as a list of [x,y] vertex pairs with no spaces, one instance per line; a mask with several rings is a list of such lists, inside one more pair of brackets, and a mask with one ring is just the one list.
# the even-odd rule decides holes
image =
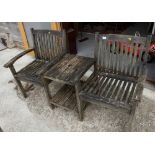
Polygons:
[[[0,52],[0,127],[3,131],[123,131],[129,116],[89,104],[84,113],[84,121],[78,121],[78,115],[61,108],[51,110],[47,104],[43,88],[35,86],[24,99],[15,87],[9,69],[3,68],[17,49]],[[16,63],[17,69],[30,62],[30,56],[24,56]],[[62,85],[50,84],[54,95]],[[132,131],[155,131],[155,86],[145,84],[142,102],[136,110]]]

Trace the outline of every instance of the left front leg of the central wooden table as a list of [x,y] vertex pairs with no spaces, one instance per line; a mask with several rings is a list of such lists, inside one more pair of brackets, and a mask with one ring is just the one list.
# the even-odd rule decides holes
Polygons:
[[42,82],[43,82],[43,86],[44,86],[44,90],[45,90],[45,94],[46,94],[46,97],[47,97],[47,101],[48,101],[48,104],[49,106],[54,109],[55,106],[53,104],[50,103],[50,99],[52,98],[51,97],[51,94],[50,94],[50,90],[49,90],[49,80],[48,79],[45,79],[45,78],[42,78]]

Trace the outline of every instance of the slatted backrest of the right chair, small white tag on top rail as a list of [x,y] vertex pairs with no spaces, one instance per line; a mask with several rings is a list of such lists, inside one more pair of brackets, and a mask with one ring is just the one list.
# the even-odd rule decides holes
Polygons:
[[146,72],[143,53],[148,54],[151,37],[95,35],[95,69],[123,76],[139,77]]

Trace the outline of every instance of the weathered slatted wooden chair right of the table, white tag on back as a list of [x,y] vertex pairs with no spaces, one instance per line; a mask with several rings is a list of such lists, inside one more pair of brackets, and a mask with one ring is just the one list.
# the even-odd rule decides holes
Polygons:
[[146,77],[146,61],[150,37],[128,35],[95,35],[94,72],[84,84],[80,99],[131,113],[131,125],[138,102],[141,101]]

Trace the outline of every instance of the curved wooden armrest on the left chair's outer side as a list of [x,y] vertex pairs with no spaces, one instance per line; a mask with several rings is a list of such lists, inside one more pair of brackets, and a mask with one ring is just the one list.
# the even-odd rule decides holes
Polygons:
[[30,49],[27,49],[23,52],[21,52],[20,54],[16,55],[14,58],[12,58],[9,62],[7,62],[4,67],[5,68],[8,68],[10,67],[11,65],[13,65],[20,57],[24,56],[25,54],[33,51],[34,49],[33,48],[30,48]]

